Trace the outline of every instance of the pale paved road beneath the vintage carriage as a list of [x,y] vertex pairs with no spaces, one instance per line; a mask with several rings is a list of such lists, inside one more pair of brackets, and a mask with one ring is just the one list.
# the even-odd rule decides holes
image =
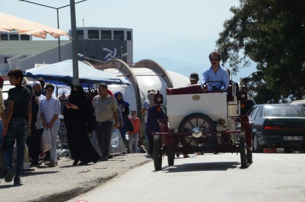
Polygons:
[[134,168],[70,201],[305,201],[305,154],[253,154],[240,168],[239,155],[191,155],[154,171]]

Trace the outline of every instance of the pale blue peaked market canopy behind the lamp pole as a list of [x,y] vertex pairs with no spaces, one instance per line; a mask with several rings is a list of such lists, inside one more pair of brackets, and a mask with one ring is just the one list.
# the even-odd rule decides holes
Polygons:
[[[106,84],[130,84],[125,78],[119,78],[112,74],[95,69],[78,61],[79,83],[84,86],[104,82]],[[59,81],[73,85],[73,64],[72,60],[66,60],[51,65],[25,70],[25,76],[31,78],[43,78],[46,82]]]

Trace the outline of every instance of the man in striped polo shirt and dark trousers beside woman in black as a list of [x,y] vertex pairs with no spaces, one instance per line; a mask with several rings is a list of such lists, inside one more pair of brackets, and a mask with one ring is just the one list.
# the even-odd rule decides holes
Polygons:
[[99,148],[102,151],[102,161],[108,161],[111,129],[118,128],[117,102],[108,95],[107,84],[99,84],[99,95],[93,98],[92,105],[97,119],[97,137]]

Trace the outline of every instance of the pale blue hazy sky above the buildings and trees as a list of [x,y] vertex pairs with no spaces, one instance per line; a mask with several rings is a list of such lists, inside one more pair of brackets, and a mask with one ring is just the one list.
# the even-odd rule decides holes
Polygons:
[[[78,1],[80,0],[75,0]],[[70,4],[68,0],[31,0],[31,2],[55,8]],[[0,0],[0,5],[0,12],[57,27],[55,9],[18,0]],[[134,58],[137,59],[160,57],[155,51],[156,48],[166,47],[167,44],[194,44],[191,49],[199,51],[199,54],[193,54],[194,57],[191,54],[191,56],[177,55],[174,49],[162,53],[162,57],[181,62],[208,64],[206,54],[216,48],[214,41],[223,31],[224,21],[233,16],[229,11],[230,7],[238,5],[237,0],[88,0],[75,5],[76,26],[83,26],[82,19],[84,19],[84,26],[132,28]],[[70,7],[59,9],[59,27],[67,32],[70,30]],[[38,38],[33,37],[33,39]],[[61,37],[61,39],[67,38]],[[47,40],[53,38],[48,37]],[[211,43],[205,46],[202,45],[203,41]],[[143,49],[146,49],[147,55],[141,54]],[[149,52],[150,49],[154,51]],[[204,57],[201,58],[201,55]],[[206,67],[203,66],[202,71],[204,68]],[[241,70],[246,73],[240,71],[240,75],[234,80],[255,71],[249,68]]]

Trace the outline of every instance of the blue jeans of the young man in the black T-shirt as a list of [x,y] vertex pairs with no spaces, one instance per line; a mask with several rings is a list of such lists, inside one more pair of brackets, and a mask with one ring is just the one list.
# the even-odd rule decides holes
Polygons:
[[28,137],[28,123],[23,118],[12,118],[10,120],[8,131],[6,134],[7,151],[5,152],[5,158],[8,169],[13,165],[13,148],[16,139],[17,146],[17,163],[15,176],[19,177],[22,172],[24,162],[24,148],[25,140]]

